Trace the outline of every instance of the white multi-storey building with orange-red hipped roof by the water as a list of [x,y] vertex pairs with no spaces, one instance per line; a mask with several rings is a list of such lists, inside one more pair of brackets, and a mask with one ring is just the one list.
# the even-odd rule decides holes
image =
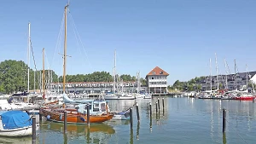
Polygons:
[[169,74],[162,70],[159,66],[148,73],[146,76],[149,93],[166,93],[167,92],[167,77]]

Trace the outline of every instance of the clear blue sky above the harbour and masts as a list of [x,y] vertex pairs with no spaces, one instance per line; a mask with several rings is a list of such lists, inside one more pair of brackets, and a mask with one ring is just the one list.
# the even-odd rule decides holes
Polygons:
[[[64,6],[62,0],[5,0],[0,5],[0,61],[25,60],[27,24],[31,22],[32,47],[38,69],[42,49],[46,67],[61,75],[63,41],[57,39]],[[175,80],[218,72],[224,58],[234,72],[256,71],[256,1],[247,0],[71,0],[67,20],[67,74],[117,72],[141,76],[160,66]],[[83,43],[77,43],[74,24]],[[63,35],[61,35],[63,40]],[[78,38],[79,39],[79,38]],[[56,43],[61,45],[56,46]],[[32,59],[31,59],[31,66]]]

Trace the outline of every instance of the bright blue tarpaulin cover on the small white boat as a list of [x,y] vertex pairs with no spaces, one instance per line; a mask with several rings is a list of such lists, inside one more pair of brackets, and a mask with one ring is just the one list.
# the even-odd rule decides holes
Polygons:
[[32,119],[26,112],[7,111],[1,114],[4,130],[13,130],[32,125]]

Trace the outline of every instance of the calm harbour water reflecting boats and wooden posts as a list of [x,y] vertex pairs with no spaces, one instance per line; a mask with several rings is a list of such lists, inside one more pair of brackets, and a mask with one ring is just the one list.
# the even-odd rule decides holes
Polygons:
[[[139,104],[141,122],[137,123],[133,109],[133,130],[130,121],[110,120],[104,124],[68,125],[63,135],[63,124],[44,122],[38,133],[38,143],[223,143],[240,144],[256,141],[256,102],[219,101],[189,98],[165,98],[165,109],[160,99],[160,113],[155,112],[155,101],[109,101],[112,110],[125,110],[135,102]],[[152,102],[152,129],[148,103]],[[226,133],[222,133],[222,108],[227,109]],[[244,140],[243,140],[244,139]],[[3,142],[5,141],[5,142]],[[0,143],[8,143],[0,139]],[[9,143],[16,143],[9,139]],[[21,138],[19,143],[31,143]]]

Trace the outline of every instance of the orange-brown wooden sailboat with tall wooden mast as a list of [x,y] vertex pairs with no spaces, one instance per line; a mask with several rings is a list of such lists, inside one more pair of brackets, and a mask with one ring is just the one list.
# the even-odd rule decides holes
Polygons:
[[[64,40],[64,55],[63,55],[63,97],[68,98],[65,92],[66,85],[66,56],[67,56],[67,8],[68,3],[65,6],[65,40]],[[71,103],[78,102],[67,99]],[[80,103],[81,104],[81,103]],[[63,105],[62,108],[42,107],[40,113],[44,115],[48,120],[64,123],[64,112],[67,112],[67,123],[68,124],[88,124],[86,109],[90,109],[90,123],[102,123],[113,118],[113,114],[108,112],[108,106],[106,101],[97,103],[94,101],[88,101],[79,107],[66,107]]]

